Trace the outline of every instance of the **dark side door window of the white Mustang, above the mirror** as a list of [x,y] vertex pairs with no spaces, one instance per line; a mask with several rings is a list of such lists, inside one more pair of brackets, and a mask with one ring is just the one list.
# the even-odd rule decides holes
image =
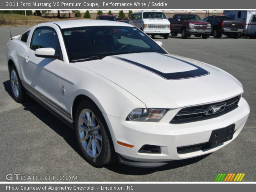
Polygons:
[[54,48],[59,53],[58,37],[55,30],[50,28],[39,28],[34,31],[30,48],[36,50],[38,48]]

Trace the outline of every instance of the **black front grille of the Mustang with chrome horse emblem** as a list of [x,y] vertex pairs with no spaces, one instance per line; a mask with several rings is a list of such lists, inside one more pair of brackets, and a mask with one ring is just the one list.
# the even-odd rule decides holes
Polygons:
[[[221,116],[237,108],[240,97],[241,95],[222,102],[183,108],[174,116],[170,123],[187,123]],[[220,108],[221,112],[209,112],[212,106],[222,106]]]

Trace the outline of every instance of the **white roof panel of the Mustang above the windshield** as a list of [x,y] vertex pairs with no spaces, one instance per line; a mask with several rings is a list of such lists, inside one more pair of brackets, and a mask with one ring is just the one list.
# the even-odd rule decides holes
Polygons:
[[94,19],[80,19],[80,20],[65,20],[51,22],[57,24],[60,28],[74,28],[84,26],[128,26],[133,27],[130,24],[124,22],[108,21],[108,20],[94,20]]

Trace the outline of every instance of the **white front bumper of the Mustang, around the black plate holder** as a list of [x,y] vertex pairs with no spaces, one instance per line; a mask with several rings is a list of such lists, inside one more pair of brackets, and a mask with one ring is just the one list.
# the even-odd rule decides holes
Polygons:
[[[240,99],[238,107],[227,114],[207,120],[170,124],[172,117],[180,109],[169,110],[160,122],[131,122],[122,118],[104,114],[110,128],[116,153],[119,161],[131,166],[161,166],[170,160],[182,160],[208,153],[212,153],[232,142],[241,132],[248,118],[250,108]],[[209,142],[213,130],[225,128],[235,124],[233,138],[214,147],[179,154],[177,148]],[[134,147],[128,148],[117,143],[123,142]],[[144,145],[160,146],[160,153],[140,153]],[[165,163],[159,163],[165,162]]]

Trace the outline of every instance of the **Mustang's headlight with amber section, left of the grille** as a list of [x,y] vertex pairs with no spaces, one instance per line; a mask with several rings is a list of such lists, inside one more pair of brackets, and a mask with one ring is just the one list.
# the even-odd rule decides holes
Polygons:
[[126,121],[158,122],[166,113],[166,109],[135,108],[132,110]]

